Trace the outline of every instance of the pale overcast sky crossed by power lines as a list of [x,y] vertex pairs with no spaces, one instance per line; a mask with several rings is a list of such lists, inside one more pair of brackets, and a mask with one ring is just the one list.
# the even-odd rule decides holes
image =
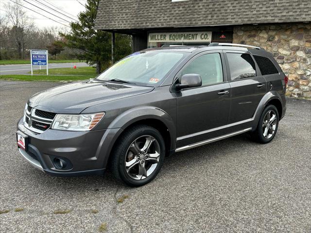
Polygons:
[[[16,0],[12,0],[12,1],[16,1]],[[0,0],[0,15],[3,16],[5,13],[5,9],[3,7],[3,5],[7,2],[10,2],[13,4],[13,2],[10,0]],[[27,3],[26,1],[28,1],[29,3]],[[49,17],[51,19],[54,19],[60,23],[63,23],[65,25],[69,25],[69,23],[66,21],[73,21],[72,18],[76,19],[76,16],[79,14],[79,12],[84,11],[85,7],[84,4],[86,3],[86,0],[20,0],[20,2],[25,6],[28,7],[46,17]],[[40,3],[38,3],[38,1]],[[80,3],[81,4],[80,4]],[[34,4],[35,6],[31,5]],[[51,12],[52,14],[54,14],[55,16],[37,8],[36,6]],[[50,9],[49,7],[51,7],[52,9],[64,14],[60,14],[57,13],[56,11],[53,11],[52,9]],[[59,9],[58,9],[59,8]],[[60,10],[61,9],[61,10]],[[24,8],[24,10],[27,12],[28,16],[34,19],[35,24],[39,27],[39,28],[43,28],[43,27],[51,27],[51,26],[57,26],[57,27],[65,27],[62,24],[59,24],[57,22],[54,22],[44,16],[38,15],[37,13],[28,10],[26,8]],[[58,17],[56,17],[58,16]],[[68,17],[66,17],[68,16]],[[59,18],[60,17],[60,18]],[[71,18],[69,18],[71,17]]]

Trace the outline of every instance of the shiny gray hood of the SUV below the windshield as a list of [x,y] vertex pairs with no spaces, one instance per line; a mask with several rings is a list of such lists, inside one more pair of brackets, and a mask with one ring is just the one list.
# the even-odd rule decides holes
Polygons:
[[39,92],[28,104],[52,113],[79,114],[87,107],[150,92],[154,87],[88,80]]

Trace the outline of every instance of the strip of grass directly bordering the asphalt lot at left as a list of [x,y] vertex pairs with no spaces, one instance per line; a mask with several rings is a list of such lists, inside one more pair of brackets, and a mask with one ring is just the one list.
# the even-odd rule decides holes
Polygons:
[[0,75],[0,80],[10,81],[46,81],[46,82],[59,82],[59,81],[78,81],[94,78],[95,75],[23,75],[23,74],[7,74]]

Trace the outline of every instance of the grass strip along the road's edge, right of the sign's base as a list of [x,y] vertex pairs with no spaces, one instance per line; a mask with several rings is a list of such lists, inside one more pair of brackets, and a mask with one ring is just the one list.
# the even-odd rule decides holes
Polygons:
[[[34,74],[46,74],[46,69],[37,69],[34,70]],[[31,72],[28,72],[31,73]],[[96,76],[96,68],[93,67],[77,67],[74,68],[52,68],[49,69],[49,75],[50,74],[67,74],[67,75],[92,75],[93,77]]]

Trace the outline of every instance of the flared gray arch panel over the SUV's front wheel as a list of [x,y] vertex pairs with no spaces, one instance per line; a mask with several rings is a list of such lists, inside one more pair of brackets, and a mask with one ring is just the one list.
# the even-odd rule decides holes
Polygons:
[[[108,126],[104,133],[100,145],[96,152],[96,159],[103,162],[103,167],[106,167],[112,147],[117,141],[121,133],[131,124],[144,119],[160,120],[169,130],[171,138],[170,150],[176,148],[176,128],[174,121],[165,111],[152,106],[141,106],[122,113],[116,117]],[[103,160],[100,159],[103,156]]]

